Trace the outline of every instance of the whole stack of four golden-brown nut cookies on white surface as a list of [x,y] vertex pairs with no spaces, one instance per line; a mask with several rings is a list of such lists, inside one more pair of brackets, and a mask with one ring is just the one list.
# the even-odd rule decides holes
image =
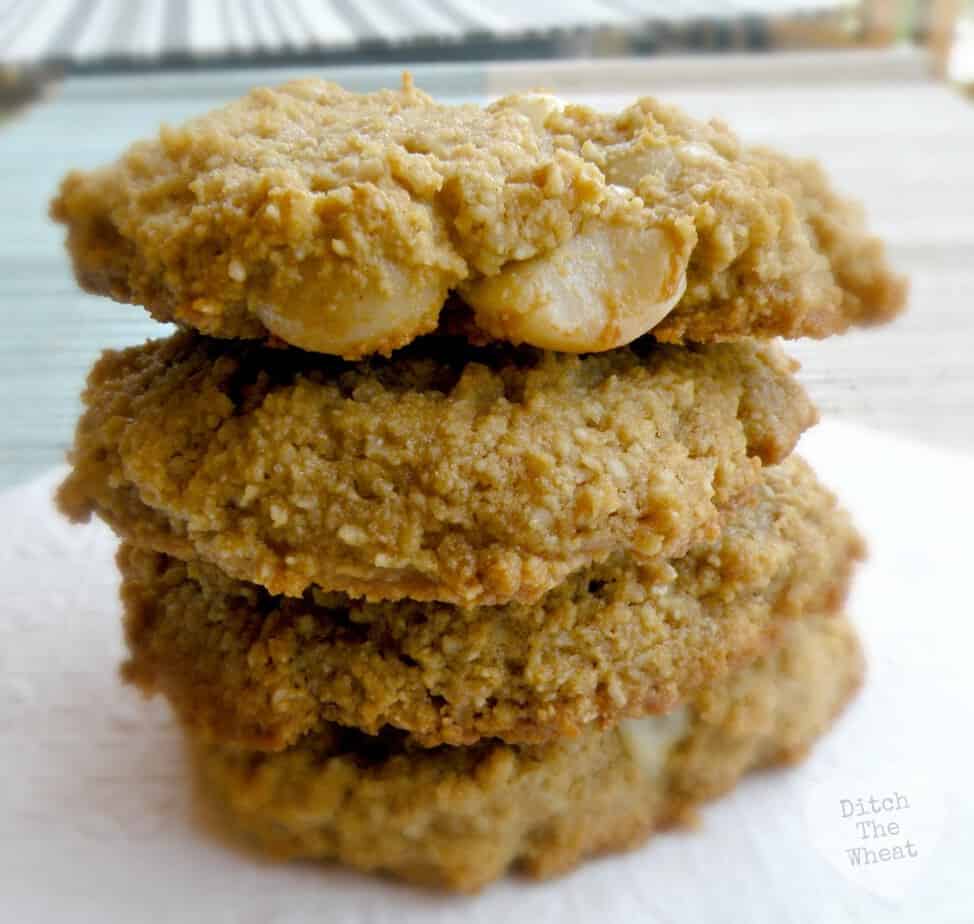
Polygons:
[[904,286],[812,164],[652,99],[257,90],[54,216],[183,329],[96,364],[60,491],[130,681],[278,856],[561,871],[800,756],[860,540],[777,336]]

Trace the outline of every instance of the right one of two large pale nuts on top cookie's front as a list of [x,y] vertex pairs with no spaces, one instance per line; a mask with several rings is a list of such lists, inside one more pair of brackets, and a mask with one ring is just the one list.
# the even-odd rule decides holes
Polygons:
[[689,255],[666,229],[593,222],[552,253],[460,291],[498,339],[594,353],[631,343],[673,310]]

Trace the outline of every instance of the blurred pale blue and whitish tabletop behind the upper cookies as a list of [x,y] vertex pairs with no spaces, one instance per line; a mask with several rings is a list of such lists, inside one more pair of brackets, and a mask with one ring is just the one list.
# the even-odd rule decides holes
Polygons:
[[[306,73],[306,72],[305,72]],[[790,344],[823,413],[974,452],[974,106],[910,53],[424,66],[438,96],[482,99],[540,85],[617,107],[654,93],[719,115],[746,139],[820,157],[867,205],[912,279],[909,313],[876,331]],[[100,349],[164,331],[138,308],[79,292],[46,218],[59,177],[93,166],[160,121],[279,82],[286,71],[74,79],[0,128],[0,486],[59,462]],[[395,68],[329,71],[355,89]]]

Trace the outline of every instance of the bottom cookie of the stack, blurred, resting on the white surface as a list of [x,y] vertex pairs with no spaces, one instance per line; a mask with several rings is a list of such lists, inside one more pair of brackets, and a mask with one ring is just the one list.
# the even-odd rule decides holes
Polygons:
[[748,770],[795,761],[861,676],[848,623],[809,616],[679,722],[434,750],[330,726],[279,754],[200,742],[194,753],[220,817],[271,856],[473,891],[512,866],[545,877],[636,846]]

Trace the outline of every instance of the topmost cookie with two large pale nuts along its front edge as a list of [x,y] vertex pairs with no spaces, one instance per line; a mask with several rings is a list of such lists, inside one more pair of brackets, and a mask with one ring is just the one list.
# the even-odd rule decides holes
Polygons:
[[258,89],[64,180],[89,291],[222,337],[356,359],[436,324],[566,352],[822,337],[903,303],[814,165],[651,98],[487,108],[320,80]]

